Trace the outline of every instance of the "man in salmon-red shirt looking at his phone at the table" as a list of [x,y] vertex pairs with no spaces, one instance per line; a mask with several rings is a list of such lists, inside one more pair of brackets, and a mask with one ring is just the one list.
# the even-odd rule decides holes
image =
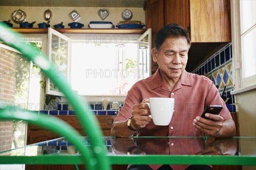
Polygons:
[[[131,137],[137,132],[139,136],[206,134],[223,138],[235,134],[235,123],[212,81],[204,76],[186,72],[190,45],[189,35],[179,25],[169,24],[160,29],[151,50],[153,61],[158,63],[159,68],[154,75],[138,81],[131,87],[113,122],[111,135]],[[145,103],[154,97],[175,98],[175,111],[169,126],[156,126],[148,116],[150,109]],[[201,118],[204,108],[208,105],[222,105],[223,109],[219,115],[207,113],[206,117],[212,120]],[[150,167],[144,166],[141,169],[157,170],[159,166]],[[200,170],[200,166],[193,168]],[[207,168],[210,167],[203,167]],[[132,166],[128,169],[132,169]]]

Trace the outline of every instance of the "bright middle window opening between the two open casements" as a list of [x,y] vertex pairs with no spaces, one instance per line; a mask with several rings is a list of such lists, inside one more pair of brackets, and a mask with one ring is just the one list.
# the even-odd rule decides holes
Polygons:
[[71,85],[79,95],[126,95],[137,81],[137,44],[72,43]]

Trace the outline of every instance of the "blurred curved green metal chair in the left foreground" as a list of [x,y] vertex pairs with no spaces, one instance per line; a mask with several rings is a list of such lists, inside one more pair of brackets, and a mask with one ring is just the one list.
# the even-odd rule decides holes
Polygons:
[[[41,68],[42,72],[47,75],[50,80],[58,86],[61,92],[66,96],[67,100],[76,110],[76,114],[79,117],[81,126],[86,132],[87,136],[100,141],[102,136],[102,131],[100,129],[99,123],[96,120],[93,113],[88,112],[85,106],[85,101],[79,98],[79,96],[74,92],[69,84],[67,83],[64,75],[60,75],[58,78],[55,75],[54,70],[56,69],[54,64],[51,63],[48,58],[41,55],[32,48],[32,46],[19,43],[11,43],[14,38],[20,37],[20,34],[12,31],[4,26],[4,23],[0,23],[0,40],[4,43],[9,44],[13,48],[17,49],[29,60],[35,63]],[[1,120],[24,120],[29,123],[42,126],[48,130],[53,130],[59,135],[65,136],[73,145],[76,146],[77,150],[82,155],[84,163],[89,170],[111,170],[111,165],[109,164],[107,152],[104,146],[99,143],[93,143],[93,149],[87,150],[82,142],[79,140],[79,133],[76,132],[72,127],[70,127],[64,121],[52,116],[41,116],[32,112],[16,112],[12,111],[11,108],[1,108],[0,109],[0,119]]]

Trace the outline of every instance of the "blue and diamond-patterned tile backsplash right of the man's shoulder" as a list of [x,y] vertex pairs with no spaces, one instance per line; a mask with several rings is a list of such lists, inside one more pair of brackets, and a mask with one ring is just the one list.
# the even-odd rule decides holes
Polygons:
[[229,111],[236,112],[235,97],[230,95],[230,91],[234,89],[232,78],[232,43],[227,44],[227,46],[216,52],[192,72],[204,75],[212,80],[226,102]]

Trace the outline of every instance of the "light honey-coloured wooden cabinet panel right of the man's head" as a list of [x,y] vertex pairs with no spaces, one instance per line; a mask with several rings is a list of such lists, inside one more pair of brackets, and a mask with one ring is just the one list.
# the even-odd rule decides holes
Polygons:
[[230,0],[190,0],[191,41],[231,42]]

